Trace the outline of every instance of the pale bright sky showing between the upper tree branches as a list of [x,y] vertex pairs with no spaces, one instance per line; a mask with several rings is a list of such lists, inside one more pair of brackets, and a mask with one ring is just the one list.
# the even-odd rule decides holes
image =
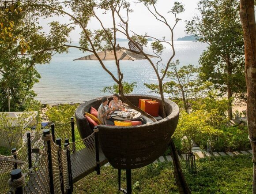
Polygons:
[[[135,0],[130,0],[130,2],[133,9],[133,12],[129,15],[130,30],[134,31],[136,34],[147,33],[149,36],[160,39],[165,36],[166,40],[170,40],[170,31],[165,24],[156,20],[154,16],[147,10],[147,8],[143,6],[143,4],[135,4]],[[190,20],[192,19],[192,16],[194,14],[199,14],[196,9],[198,0],[180,0],[180,2],[184,4],[185,11],[178,16],[182,20],[178,22],[177,26],[174,29],[174,40],[176,40],[178,37],[186,36],[186,33],[184,32],[185,20]],[[168,14],[167,12],[173,7],[173,3],[174,0],[158,0],[157,4],[158,11],[166,17],[171,26],[174,24],[174,16],[171,13]],[[104,26],[111,27],[112,17],[110,14],[107,13],[103,15],[102,11],[97,11],[96,14],[100,19],[102,19]],[[56,16],[52,19],[41,19],[41,25],[46,32],[49,31],[48,23],[54,20],[65,23],[68,22],[69,17]],[[88,28],[91,30],[99,29],[100,23],[96,19],[91,19],[88,24]],[[79,29],[79,27],[73,30],[70,34],[71,40],[79,41],[80,32],[81,29]],[[131,32],[131,35],[132,34],[133,33]],[[117,37],[125,38],[123,34],[117,34]]]

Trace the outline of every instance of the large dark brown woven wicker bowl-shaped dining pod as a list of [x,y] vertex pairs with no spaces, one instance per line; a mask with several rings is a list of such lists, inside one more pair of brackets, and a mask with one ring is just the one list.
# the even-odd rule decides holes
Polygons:
[[[160,102],[159,115],[163,117],[160,97],[148,95],[128,95],[129,101],[138,106],[139,98]],[[112,100],[112,96],[108,97]],[[122,100],[122,99],[121,99]],[[90,112],[90,107],[98,109],[101,98],[81,104],[75,111],[76,123],[81,138],[92,133],[87,119],[83,116]],[[157,160],[168,147],[178,119],[179,108],[173,101],[165,99],[166,118],[155,123],[147,123],[132,127],[98,125],[99,142],[109,163],[118,169],[141,168]]]

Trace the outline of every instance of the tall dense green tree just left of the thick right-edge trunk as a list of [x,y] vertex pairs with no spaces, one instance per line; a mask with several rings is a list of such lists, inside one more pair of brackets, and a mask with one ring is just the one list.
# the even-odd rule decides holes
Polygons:
[[[237,0],[201,0],[201,16],[187,22],[186,32],[208,44],[200,57],[201,78],[212,82],[215,89],[243,96],[246,92],[244,75],[244,40]],[[239,84],[237,84],[239,83]],[[231,102],[229,118],[232,119]]]

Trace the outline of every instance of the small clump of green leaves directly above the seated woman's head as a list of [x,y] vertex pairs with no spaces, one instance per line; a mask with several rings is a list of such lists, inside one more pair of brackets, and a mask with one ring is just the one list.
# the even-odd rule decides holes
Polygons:
[[[130,94],[133,92],[134,87],[137,87],[137,82],[122,82],[124,94]],[[101,92],[103,93],[119,93],[119,86],[114,84],[113,86],[105,86]]]

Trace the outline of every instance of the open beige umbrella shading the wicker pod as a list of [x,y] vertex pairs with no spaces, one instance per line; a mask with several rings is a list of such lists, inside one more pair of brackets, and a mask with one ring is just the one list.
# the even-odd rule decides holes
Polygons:
[[[116,54],[117,54],[118,64],[120,64],[119,63],[120,60],[145,60],[146,59],[146,57],[142,53],[140,53],[139,50],[131,44],[131,42],[129,42],[128,44],[130,49],[120,47],[119,44],[117,45]],[[116,60],[113,48],[105,51],[97,52],[97,54],[101,60]],[[149,58],[158,57],[150,54],[147,54],[147,56]],[[98,58],[95,56],[95,54],[91,54],[75,60],[98,60]],[[119,79],[120,79],[120,76],[118,75],[118,80]],[[120,94],[120,89],[119,89],[119,94]]]

